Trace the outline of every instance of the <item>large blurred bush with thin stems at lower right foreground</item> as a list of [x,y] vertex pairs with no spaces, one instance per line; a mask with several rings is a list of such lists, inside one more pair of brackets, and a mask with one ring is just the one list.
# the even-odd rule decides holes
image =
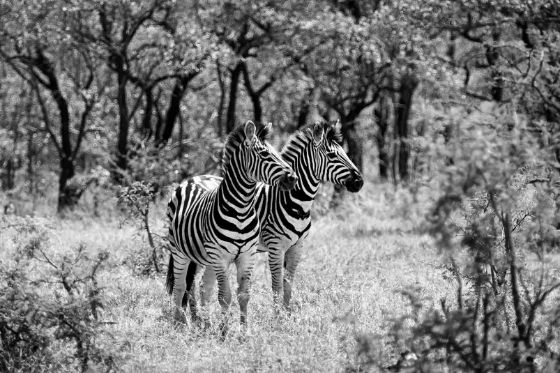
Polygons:
[[[430,185],[425,226],[448,256],[441,268],[456,295],[435,307],[409,291],[411,311],[393,319],[393,348],[417,358],[407,361],[416,372],[559,371],[554,149],[532,126],[492,121],[467,123],[438,151],[453,162]],[[356,340],[362,356],[374,355],[372,337]]]

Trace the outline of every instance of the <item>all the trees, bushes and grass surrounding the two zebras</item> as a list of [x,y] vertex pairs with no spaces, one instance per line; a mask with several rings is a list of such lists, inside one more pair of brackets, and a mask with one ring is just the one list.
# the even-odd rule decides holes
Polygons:
[[[557,0],[0,0],[0,371],[557,372],[559,25]],[[165,205],[248,119],[278,149],[340,120],[366,183],[322,186],[292,312],[259,257],[221,341],[172,321]]]

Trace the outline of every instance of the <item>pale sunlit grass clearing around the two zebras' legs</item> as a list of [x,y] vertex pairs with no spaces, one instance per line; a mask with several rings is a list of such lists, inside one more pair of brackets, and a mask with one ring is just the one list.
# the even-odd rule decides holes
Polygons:
[[[163,233],[165,202],[160,205],[153,227]],[[382,365],[395,362],[400,351],[387,333],[393,317],[409,312],[400,291],[418,289],[428,304],[451,296],[453,284],[430,265],[439,253],[429,237],[418,233],[421,214],[415,211],[395,199],[388,185],[370,183],[346,206],[315,218],[294,285],[294,312],[274,312],[270,273],[261,256],[253,277],[250,328],[241,332],[234,303],[225,342],[215,328],[174,325],[165,273],[140,275],[131,265],[147,243],[130,224],[84,214],[49,218],[50,243],[59,252],[85,243],[91,252],[110,253],[109,266],[99,276],[108,299],[103,319],[115,322],[111,343],[123,353],[123,372],[341,372],[361,364],[356,338],[363,335],[375,336],[370,353]],[[9,236],[10,231],[3,233],[4,244]],[[5,250],[0,259],[9,256]],[[210,313],[218,319],[217,301]]]

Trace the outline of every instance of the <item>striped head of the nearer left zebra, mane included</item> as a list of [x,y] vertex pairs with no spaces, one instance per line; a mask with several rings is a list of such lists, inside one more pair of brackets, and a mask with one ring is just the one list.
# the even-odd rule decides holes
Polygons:
[[[241,140],[236,146],[238,150],[235,152],[239,158],[240,169],[244,169],[246,176],[251,181],[278,185],[281,190],[292,190],[298,177],[278,151],[268,143],[267,139],[271,129],[272,123],[255,125],[252,121],[247,121],[243,128],[239,128],[236,134],[232,134],[233,137],[237,135]],[[232,135],[230,135],[230,139]],[[225,153],[225,158],[232,156],[234,154]],[[222,165],[222,169],[226,168]]]

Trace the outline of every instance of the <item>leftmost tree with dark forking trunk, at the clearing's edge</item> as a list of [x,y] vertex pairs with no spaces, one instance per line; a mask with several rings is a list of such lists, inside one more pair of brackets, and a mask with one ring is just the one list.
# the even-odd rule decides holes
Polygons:
[[[0,57],[31,87],[43,115],[45,130],[59,154],[58,211],[77,202],[68,181],[75,176],[74,162],[86,125],[105,87],[98,79],[98,66],[93,57],[88,50],[80,48],[82,40],[73,38],[73,31],[82,26],[78,14],[69,8],[54,6],[53,1],[40,4],[24,1],[4,15],[1,31]],[[60,55],[67,63],[57,63],[55,56]],[[45,93],[50,100],[45,98]],[[80,100],[81,106],[73,105],[70,111],[70,100]],[[53,118],[52,106],[56,107],[57,121]],[[77,135],[73,141],[74,131]]]

